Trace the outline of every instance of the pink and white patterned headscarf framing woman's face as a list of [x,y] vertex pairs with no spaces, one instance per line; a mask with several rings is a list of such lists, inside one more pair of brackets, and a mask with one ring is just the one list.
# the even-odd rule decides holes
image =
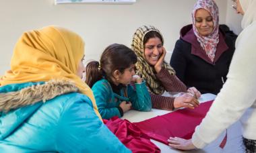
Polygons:
[[[195,27],[195,12],[197,9],[205,9],[207,10],[210,15],[212,15],[214,21],[214,30],[212,34],[208,36],[201,36]],[[207,56],[214,61],[216,48],[219,42],[219,9],[214,0],[198,0],[195,3],[193,12],[192,12],[192,19],[193,19],[193,31],[195,36],[197,36],[197,41],[200,43],[203,50],[205,50]]]

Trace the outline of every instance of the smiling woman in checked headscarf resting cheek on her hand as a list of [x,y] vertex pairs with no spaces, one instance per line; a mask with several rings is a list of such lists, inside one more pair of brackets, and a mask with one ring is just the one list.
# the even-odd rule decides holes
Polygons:
[[152,107],[172,110],[174,108],[197,107],[200,93],[194,87],[188,91],[195,97],[184,94],[180,97],[164,97],[164,91],[187,92],[187,87],[176,77],[174,70],[164,62],[166,50],[159,30],[153,26],[143,25],[133,36],[131,49],[135,52],[138,62],[135,64],[137,74],[146,81],[151,93]]

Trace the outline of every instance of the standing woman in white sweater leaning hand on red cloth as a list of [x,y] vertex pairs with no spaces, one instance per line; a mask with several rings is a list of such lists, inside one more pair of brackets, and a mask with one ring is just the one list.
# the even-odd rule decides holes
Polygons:
[[256,152],[256,1],[236,0],[234,3],[237,13],[243,15],[243,31],[236,40],[228,79],[210,111],[196,127],[192,140],[170,138],[168,142],[173,148],[203,148],[239,119],[246,152]]

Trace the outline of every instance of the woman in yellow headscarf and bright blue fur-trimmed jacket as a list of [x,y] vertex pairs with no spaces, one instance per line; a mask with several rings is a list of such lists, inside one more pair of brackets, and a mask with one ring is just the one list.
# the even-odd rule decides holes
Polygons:
[[102,123],[83,58],[64,28],[22,35],[0,79],[0,152],[131,152]]

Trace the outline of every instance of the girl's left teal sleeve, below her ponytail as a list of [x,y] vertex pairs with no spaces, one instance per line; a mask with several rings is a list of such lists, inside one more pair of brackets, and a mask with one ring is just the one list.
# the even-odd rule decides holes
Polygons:
[[98,81],[92,87],[98,111],[104,119],[110,119],[114,116],[121,117],[119,109],[117,108],[117,106],[119,106],[118,103],[115,103],[116,106],[108,107],[109,99],[113,97],[110,92],[111,90],[108,83],[104,81]]

